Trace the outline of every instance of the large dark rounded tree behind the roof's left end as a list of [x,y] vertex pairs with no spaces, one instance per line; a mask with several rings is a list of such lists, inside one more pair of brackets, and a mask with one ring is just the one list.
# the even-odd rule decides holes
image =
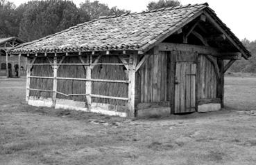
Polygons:
[[[19,25],[19,37],[26,41],[39,39],[80,23],[80,11],[72,1],[28,1]],[[85,14],[85,13],[84,13]],[[88,21],[83,17],[83,21]]]

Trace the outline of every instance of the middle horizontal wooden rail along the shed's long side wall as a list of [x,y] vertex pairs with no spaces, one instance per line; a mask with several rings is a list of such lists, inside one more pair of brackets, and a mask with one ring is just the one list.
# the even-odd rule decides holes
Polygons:
[[[53,77],[40,77],[40,76],[28,76],[28,78],[54,79]],[[98,82],[126,83],[126,84],[130,83],[130,81],[128,80],[114,80],[114,79],[82,79],[82,78],[70,78],[70,77],[56,77],[56,79],[67,79],[67,80],[78,80],[78,81],[98,81]]]

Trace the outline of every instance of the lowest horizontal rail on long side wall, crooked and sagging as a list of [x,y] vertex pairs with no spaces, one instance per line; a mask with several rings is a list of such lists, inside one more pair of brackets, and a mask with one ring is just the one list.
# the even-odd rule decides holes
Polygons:
[[[34,88],[27,88],[28,90],[35,90],[35,91],[42,91],[42,92],[50,92],[50,93],[53,93],[53,90],[43,90],[43,89],[34,89]],[[65,93],[60,93],[60,92],[56,92],[60,95],[65,95],[67,97],[70,97],[70,96],[85,96],[85,95],[89,95],[89,94],[65,94]],[[119,99],[119,100],[124,100],[124,101],[128,101],[129,99],[126,98],[126,97],[114,97],[114,96],[105,96],[105,95],[94,95],[94,94],[91,94],[90,95],[91,97],[95,97],[95,98],[102,98],[102,99]]]

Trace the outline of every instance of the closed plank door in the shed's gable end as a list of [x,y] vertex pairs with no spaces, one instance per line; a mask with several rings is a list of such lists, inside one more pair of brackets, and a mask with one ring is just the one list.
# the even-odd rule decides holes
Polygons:
[[176,63],[174,113],[196,111],[196,64]]

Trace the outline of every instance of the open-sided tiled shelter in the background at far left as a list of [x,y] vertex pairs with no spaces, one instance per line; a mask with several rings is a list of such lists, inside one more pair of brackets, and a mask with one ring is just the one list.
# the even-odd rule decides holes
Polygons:
[[20,77],[26,75],[26,57],[10,55],[8,50],[24,43],[17,37],[0,38],[0,76]]

